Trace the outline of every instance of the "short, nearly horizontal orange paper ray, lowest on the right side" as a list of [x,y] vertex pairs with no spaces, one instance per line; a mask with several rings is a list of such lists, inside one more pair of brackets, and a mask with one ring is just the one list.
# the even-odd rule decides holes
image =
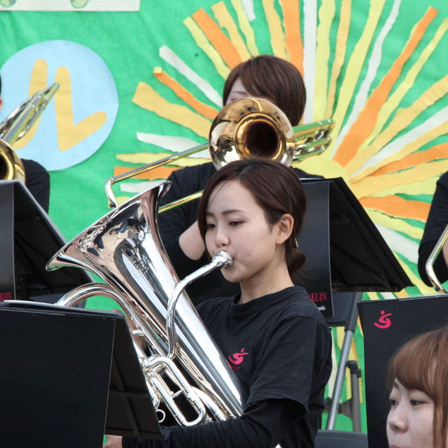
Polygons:
[[430,204],[421,201],[405,200],[399,196],[362,197],[360,204],[368,209],[382,211],[398,218],[416,219],[426,223]]

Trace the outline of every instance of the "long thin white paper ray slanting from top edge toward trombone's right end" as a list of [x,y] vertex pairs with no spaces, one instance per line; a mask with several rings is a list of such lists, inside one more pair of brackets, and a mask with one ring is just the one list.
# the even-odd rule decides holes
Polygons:
[[381,32],[379,33],[378,38],[374,43],[372,55],[370,56],[369,64],[367,66],[367,73],[365,75],[363,83],[360,85],[358,94],[356,94],[355,102],[353,104],[353,109],[351,110],[350,116],[339,132],[339,135],[337,136],[335,146],[333,146],[332,149],[332,156],[335,154],[338,146],[344,140],[347,132],[349,132],[351,125],[356,122],[360,111],[363,110],[365,103],[367,102],[367,95],[370,92],[370,86],[372,85],[375,76],[377,76],[377,70],[381,62],[384,39],[388,35],[389,31],[391,31],[391,28],[395,23],[395,20],[398,16],[398,11],[400,10],[400,4],[401,0],[395,0],[393,2],[391,13],[389,14],[384,27],[382,27]]

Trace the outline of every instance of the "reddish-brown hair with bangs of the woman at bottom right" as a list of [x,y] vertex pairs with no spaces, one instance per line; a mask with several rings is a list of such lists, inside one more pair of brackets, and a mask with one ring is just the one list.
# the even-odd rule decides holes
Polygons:
[[434,401],[434,447],[448,434],[448,326],[423,333],[404,344],[388,366],[388,387],[398,379],[407,389],[423,391]]

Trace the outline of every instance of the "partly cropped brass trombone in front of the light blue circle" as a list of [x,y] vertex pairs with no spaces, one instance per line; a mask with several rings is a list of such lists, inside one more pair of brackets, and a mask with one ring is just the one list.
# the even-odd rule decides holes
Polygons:
[[0,123],[1,181],[18,179],[25,183],[22,160],[12,146],[31,129],[58,89],[59,84],[53,83],[47,89],[36,92]]

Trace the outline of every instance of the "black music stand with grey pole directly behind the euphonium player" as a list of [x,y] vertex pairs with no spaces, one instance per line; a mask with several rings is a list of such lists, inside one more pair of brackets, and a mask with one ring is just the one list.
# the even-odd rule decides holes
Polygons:
[[326,426],[332,430],[356,328],[356,304],[360,300],[360,294],[347,294],[350,303],[344,306],[338,300],[341,303],[336,307],[332,293],[399,291],[412,286],[412,281],[342,178],[310,178],[302,179],[302,183],[307,195],[307,214],[298,244],[307,255],[303,269],[305,287],[312,299],[312,293],[318,293],[316,304],[320,309],[319,305],[325,305],[321,311],[329,325],[345,323]]

